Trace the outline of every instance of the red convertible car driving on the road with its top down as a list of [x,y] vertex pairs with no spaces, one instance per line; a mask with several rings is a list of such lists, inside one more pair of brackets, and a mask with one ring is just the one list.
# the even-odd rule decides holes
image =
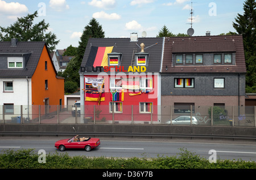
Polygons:
[[60,151],[65,151],[65,149],[85,149],[85,151],[90,151],[93,148],[100,145],[100,139],[98,138],[79,138],[78,135],[71,139],[58,140],[55,143],[55,147],[60,149]]

